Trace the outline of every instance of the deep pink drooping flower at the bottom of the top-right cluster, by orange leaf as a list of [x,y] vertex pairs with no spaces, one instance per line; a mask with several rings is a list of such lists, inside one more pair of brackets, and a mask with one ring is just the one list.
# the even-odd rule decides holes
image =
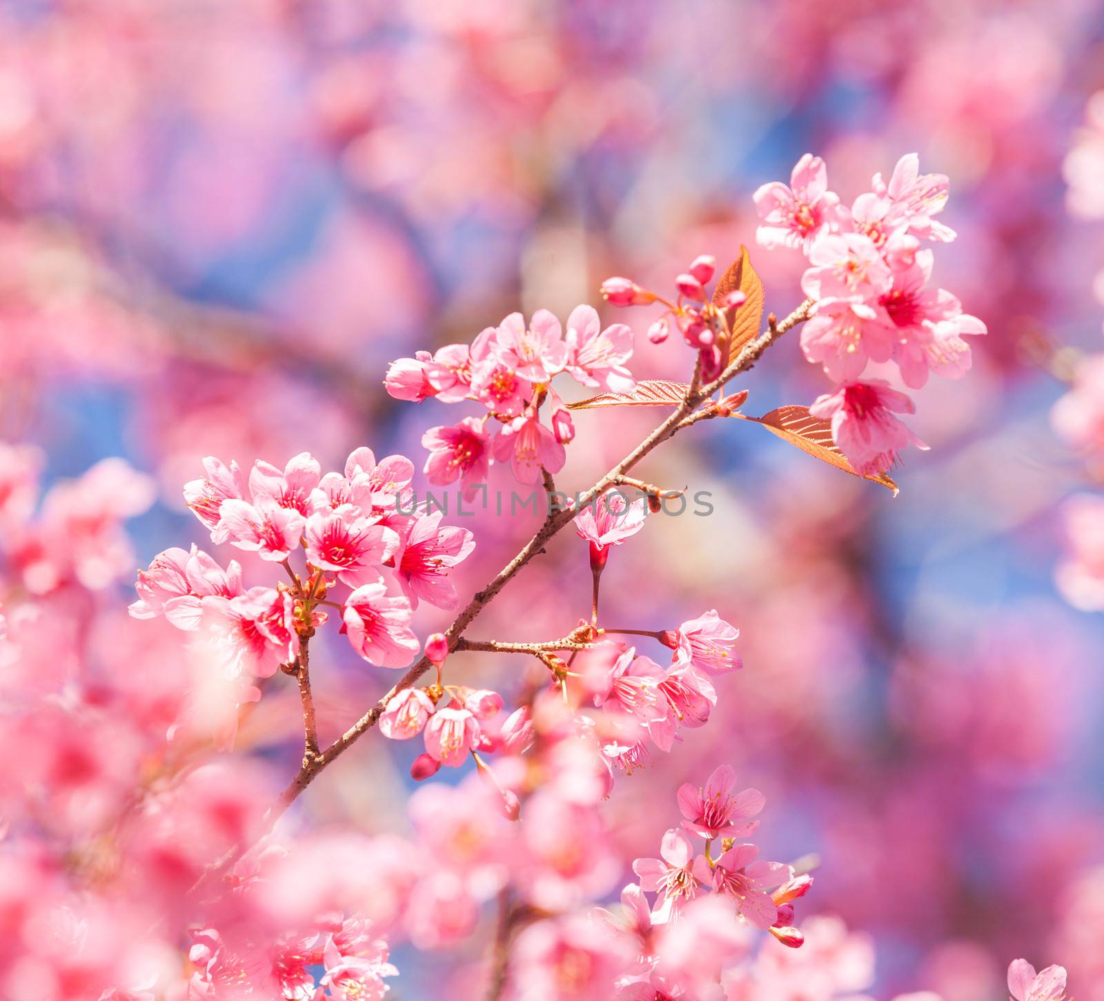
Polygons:
[[857,471],[864,476],[887,472],[910,443],[927,446],[893,413],[911,414],[912,401],[883,380],[851,382],[835,393],[818,396],[809,413],[831,420],[832,439]]

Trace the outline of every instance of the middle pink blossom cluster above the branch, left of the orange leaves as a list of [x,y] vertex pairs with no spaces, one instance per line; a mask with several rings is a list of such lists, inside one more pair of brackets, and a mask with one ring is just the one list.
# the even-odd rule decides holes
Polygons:
[[[384,386],[396,400],[432,396],[442,403],[482,405],[479,417],[432,427],[422,436],[429,451],[429,482],[447,486],[459,480],[470,500],[492,461],[509,462],[522,483],[539,483],[542,468],[562,469],[564,446],[575,428],[552,380],[567,373],[584,386],[627,393],[636,385],[626,368],[631,355],[631,330],[624,323],[603,329],[591,306],[571,311],[566,332],[551,312],[538,309],[528,323],[520,312],[510,313],[471,344],[446,344],[432,355],[420,351],[393,362]],[[548,423],[541,420],[542,408],[550,415]],[[492,436],[496,426],[499,432]]]

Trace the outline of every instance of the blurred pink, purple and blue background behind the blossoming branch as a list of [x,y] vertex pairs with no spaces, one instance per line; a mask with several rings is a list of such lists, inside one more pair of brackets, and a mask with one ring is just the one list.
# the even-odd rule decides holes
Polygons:
[[[0,436],[43,450],[46,486],[107,456],[155,477],[130,523],[145,565],[206,541],[180,494],[202,456],[340,468],[369,445],[421,467],[422,432],[460,415],[392,401],[388,362],[514,309],[563,318],[601,307],[608,275],[666,288],[746,243],[785,315],[803,259],[755,249],[752,192],[811,151],[850,202],[917,151],[952,179],[941,219],[959,235],[936,281],[989,336],[965,382],[917,394],[932,450],[906,456],[896,498],[743,422],[640,467],[715,510],[652,519],[616,551],[611,618],[667,628],[715,606],[745,669],[712,725],[619,782],[617,838],[627,860],[654,854],[678,784],[730,762],[767,795],[765,854],[820,856],[805,913],[874,936],[880,991],[999,997],[1022,955],[1102,999],[1104,627],[1054,584],[1061,503],[1095,473],[1050,418],[1075,351],[1101,348],[1102,88],[1095,0],[4,0]],[[646,310],[617,319],[638,376],[686,377]],[[742,385],[763,413],[827,383],[794,337]],[[578,414],[561,489],[655,416]],[[468,526],[461,594],[530,528]],[[586,614],[569,534],[473,636],[560,636]],[[126,619],[129,595],[105,597],[120,662],[156,629]],[[423,606],[420,635],[446,621]],[[343,640],[312,660],[329,736],[393,680]],[[501,667],[471,658],[471,678],[509,690]],[[241,741],[289,775],[297,707],[278,682]],[[378,803],[407,748],[381,744],[291,821],[401,828],[399,801]],[[432,967],[400,966],[402,997],[435,995]]]

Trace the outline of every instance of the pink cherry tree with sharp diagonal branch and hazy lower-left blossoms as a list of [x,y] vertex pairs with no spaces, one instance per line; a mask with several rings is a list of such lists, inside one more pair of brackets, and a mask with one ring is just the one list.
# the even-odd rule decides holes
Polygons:
[[[6,446],[0,519],[22,594],[2,646],[22,701],[4,742],[26,766],[0,853],[0,990],[351,1001],[402,997],[404,967],[433,962],[455,997],[858,999],[869,940],[802,919],[818,861],[768,861],[779,851],[757,835],[766,797],[730,763],[701,760],[697,781],[657,788],[668,830],[652,855],[622,856],[611,807],[739,697],[743,661],[723,595],[682,622],[626,622],[611,619],[603,582],[622,547],[668,531],[669,504],[687,501],[689,488],[652,482],[649,457],[707,422],[757,424],[896,493],[902,449],[925,447],[896,416],[913,412],[898,386],[963,376],[965,338],[985,333],[931,285],[935,247],[955,237],[935,217],[946,198],[947,179],[921,174],[915,156],[850,207],[810,155],[789,185],[761,188],[758,245],[806,258],[782,319],[746,247],[719,275],[698,256],[669,292],[603,283],[612,307],[634,308],[627,320],[639,309],[650,341],[669,342],[684,382],[634,371],[633,327],[603,326],[591,305],[564,322],[511,312],[388,369],[386,392],[428,415],[417,460],[370,445],[340,469],[310,452],[244,469],[197,456],[183,497],[211,550],[166,549],[139,572],[130,618],[169,627],[144,622],[148,641],[127,639],[96,595],[132,565],[121,523],[149,507],[150,481],[107,461],[38,505],[41,456]],[[749,373],[795,329],[826,392],[745,413]],[[460,416],[433,424],[442,404]],[[578,413],[598,412],[601,434],[622,408],[658,423],[587,484],[558,483],[585,441]],[[502,477],[510,503],[535,505],[537,528],[473,582],[466,563],[498,528]],[[542,620],[560,624],[549,636],[532,630],[516,582],[561,534],[590,584],[548,598]],[[647,583],[661,600],[664,575]],[[450,624],[420,637],[423,605]],[[481,631],[492,605],[511,608],[509,635]],[[47,641],[51,616],[72,636]],[[342,635],[374,694],[331,734],[320,706],[335,679],[318,651]],[[95,649],[110,682],[76,683],[59,642],[74,657]],[[152,649],[139,656],[142,642]],[[523,667],[492,688],[478,669],[492,661]],[[279,789],[235,748],[285,686],[301,756]],[[372,790],[373,810],[405,824],[306,823],[308,787],[339,780],[351,766],[339,759],[372,742],[424,747],[410,788]],[[1065,970],[1017,959],[1008,988],[1059,1001]]]

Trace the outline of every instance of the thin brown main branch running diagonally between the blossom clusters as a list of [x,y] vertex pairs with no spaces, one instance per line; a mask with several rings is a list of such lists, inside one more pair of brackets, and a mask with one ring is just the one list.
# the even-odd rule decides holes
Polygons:
[[[749,341],[740,353],[725,366],[725,369],[714,379],[712,382],[704,385],[700,384],[700,365],[701,360],[699,356],[698,364],[694,370],[694,380],[691,383],[686,398],[679,406],[677,406],[671,414],[659,425],[655,430],[651,432],[639,445],[636,446],[624,459],[622,459],[616,466],[614,466],[605,476],[603,476],[598,481],[586,490],[584,493],[580,494],[577,500],[578,508],[584,508],[591,501],[593,501],[598,494],[604,490],[613,487],[617,483],[618,479],[624,477],[637,462],[640,461],[645,456],[652,451],[657,446],[667,441],[669,438],[673,437],[682,427],[682,422],[692,414],[702,403],[704,403],[713,393],[721,388],[731,379],[739,375],[741,372],[746,372],[752,365],[758,361],[760,356],[771,347],[774,341],[776,341],[782,334],[787,330],[796,327],[804,320],[809,318],[814,302],[811,299],[806,299],[800,306],[797,307],[788,317],[782,320],[776,326],[769,327],[766,331],[761,333],[755,340]],[[511,581],[514,575],[533,558],[538,553],[542,552],[545,543],[556,534],[561,529],[566,526],[575,517],[575,509],[566,509],[563,511],[549,511],[543,524],[537,530],[537,534],[533,535],[529,542],[520,550],[520,552],[502,567],[490,582],[479,592],[475,594],[470,601],[460,610],[459,615],[453,620],[453,624],[445,630],[445,638],[448,640],[448,649],[457,649],[460,637],[464,630],[471,625],[476,617],[495,599],[498,593]],[[309,760],[304,759],[302,767],[299,769],[299,774],[290,781],[288,787],[280,795],[279,800],[276,805],[268,811],[266,818],[267,823],[274,823],[276,819],[284,813],[284,811],[298,798],[298,796],[307,788],[314,780],[315,777],[337,760],[342,754],[344,754],[359,738],[362,734],[371,730],[376,721],[386,707],[388,702],[391,701],[399,692],[403,689],[413,685],[423,674],[426,673],[433,667],[428,657],[422,657],[399,680],[399,682],[392,686],[392,689],[368,712],[364,713],[352,726],[350,726],[340,737],[338,737],[329,747],[327,747],[321,753],[315,755]]]

